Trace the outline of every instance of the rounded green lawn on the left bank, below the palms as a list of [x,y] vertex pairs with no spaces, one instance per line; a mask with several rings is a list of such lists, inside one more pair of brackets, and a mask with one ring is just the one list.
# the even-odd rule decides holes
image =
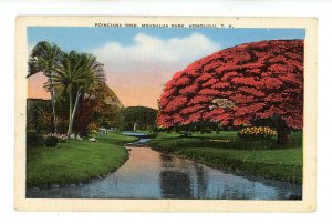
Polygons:
[[108,133],[98,142],[68,140],[56,147],[29,146],[27,150],[27,186],[49,187],[89,182],[120,167],[127,159],[124,143],[137,138]]

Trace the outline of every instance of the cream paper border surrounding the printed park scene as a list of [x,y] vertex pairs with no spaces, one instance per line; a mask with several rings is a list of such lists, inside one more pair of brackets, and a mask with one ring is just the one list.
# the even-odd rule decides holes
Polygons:
[[[28,81],[27,27],[94,27],[100,23],[231,24],[234,28],[303,28],[304,126],[302,201],[229,200],[85,200],[25,198],[25,118]],[[18,17],[15,28],[15,150],[14,208],[17,211],[151,211],[151,212],[314,212],[317,206],[317,70],[315,18],[196,18],[196,17]]]

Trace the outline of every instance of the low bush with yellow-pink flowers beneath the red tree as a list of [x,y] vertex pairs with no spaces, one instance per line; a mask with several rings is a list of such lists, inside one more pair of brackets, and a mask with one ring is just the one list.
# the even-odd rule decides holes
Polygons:
[[248,141],[270,140],[277,135],[277,131],[269,126],[248,126],[240,130],[238,135],[240,139]]

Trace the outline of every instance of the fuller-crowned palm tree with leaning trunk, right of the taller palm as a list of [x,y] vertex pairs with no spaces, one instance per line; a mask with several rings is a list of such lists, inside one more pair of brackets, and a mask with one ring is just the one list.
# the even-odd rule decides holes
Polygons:
[[66,94],[69,99],[69,128],[66,133],[69,138],[72,134],[80,98],[90,88],[105,82],[103,67],[93,54],[72,51],[64,53],[61,65],[55,68],[56,73],[53,85],[60,92]]

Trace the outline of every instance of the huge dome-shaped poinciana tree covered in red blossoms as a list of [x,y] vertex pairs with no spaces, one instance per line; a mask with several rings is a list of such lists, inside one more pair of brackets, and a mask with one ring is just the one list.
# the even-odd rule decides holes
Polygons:
[[271,119],[278,142],[303,126],[303,40],[246,43],[203,58],[164,86],[157,123],[250,125]]

